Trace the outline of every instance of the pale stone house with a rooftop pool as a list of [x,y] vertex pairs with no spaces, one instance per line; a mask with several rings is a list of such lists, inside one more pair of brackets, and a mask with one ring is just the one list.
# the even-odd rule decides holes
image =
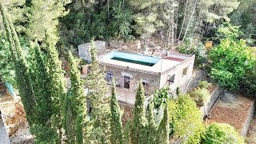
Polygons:
[[194,55],[167,54],[158,58],[143,54],[111,51],[98,60],[106,70],[106,82],[111,85],[115,80],[118,100],[134,104],[138,82],[142,80],[146,100],[154,90],[170,87],[175,94],[177,88],[185,90],[192,78]]

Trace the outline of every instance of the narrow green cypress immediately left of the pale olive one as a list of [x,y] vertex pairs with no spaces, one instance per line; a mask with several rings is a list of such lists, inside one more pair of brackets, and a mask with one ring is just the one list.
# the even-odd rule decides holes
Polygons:
[[[70,63],[70,80],[71,80],[71,89],[70,89],[70,102],[67,104],[71,108],[72,116],[75,122],[75,139],[78,143],[83,143],[86,132],[86,97],[85,91],[83,88],[83,83],[80,79],[80,72],[78,70],[78,62],[73,57],[71,52],[69,53],[69,63]],[[73,107],[72,107],[73,106]],[[73,110],[72,110],[73,109]],[[67,115],[67,118],[70,118],[70,115]],[[69,134],[67,134],[69,135]],[[74,143],[74,142],[70,142]]]

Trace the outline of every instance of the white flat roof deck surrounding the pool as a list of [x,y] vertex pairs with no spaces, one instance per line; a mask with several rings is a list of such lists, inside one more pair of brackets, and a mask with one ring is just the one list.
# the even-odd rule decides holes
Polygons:
[[[119,51],[116,51],[116,52],[118,52],[116,54],[130,54],[126,52],[119,52]],[[146,56],[142,54],[132,54],[134,57],[136,56],[142,56],[140,58],[150,57],[152,58],[153,61],[158,59],[158,61],[154,64],[154,66],[144,66],[137,63],[123,62],[123,61],[111,59],[113,56],[111,54],[113,54],[113,51],[104,55],[101,59],[99,59],[100,64],[104,66],[114,66],[114,67],[125,68],[125,69],[128,68],[130,70],[137,70],[141,72],[146,71],[147,73],[152,73],[152,74],[159,74],[159,73],[165,72],[166,70],[169,70],[174,66],[178,66],[180,63],[182,63],[186,59],[191,58],[190,55],[184,56],[184,54],[182,55],[171,54],[169,57],[166,57],[166,58],[157,58],[157,57]],[[139,59],[139,60],[145,61],[145,59]]]

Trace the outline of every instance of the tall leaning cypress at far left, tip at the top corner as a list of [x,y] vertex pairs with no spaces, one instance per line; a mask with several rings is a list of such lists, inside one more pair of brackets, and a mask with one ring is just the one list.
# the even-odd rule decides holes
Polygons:
[[22,51],[22,47],[18,40],[18,35],[14,29],[14,25],[11,22],[6,10],[3,7],[3,2],[0,2],[0,12],[2,14],[2,19],[4,27],[6,30],[6,35],[10,42],[10,52],[12,55],[12,60],[14,62],[15,70],[15,80],[17,82],[19,94],[22,98],[22,103],[26,111],[26,118],[30,125],[34,123],[34,106],[35,99],[33,96],[33,89],[31,86],[31,79],[29,74],[29,68]]

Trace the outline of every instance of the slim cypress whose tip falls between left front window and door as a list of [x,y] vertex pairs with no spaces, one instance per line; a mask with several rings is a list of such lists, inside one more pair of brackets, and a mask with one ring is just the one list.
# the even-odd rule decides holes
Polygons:
[[111,111],[111,136],[110,140],[112,144],[122,144],[123,143],[123,136],[122,136],[122,121],[121,121],[121,114],[120,114],[120,107],[117,101],[117,94],[115,90],[115,81],[114,78],[112,79],[113,86],[112,86],[112,95],[110,100],[110,111]]

